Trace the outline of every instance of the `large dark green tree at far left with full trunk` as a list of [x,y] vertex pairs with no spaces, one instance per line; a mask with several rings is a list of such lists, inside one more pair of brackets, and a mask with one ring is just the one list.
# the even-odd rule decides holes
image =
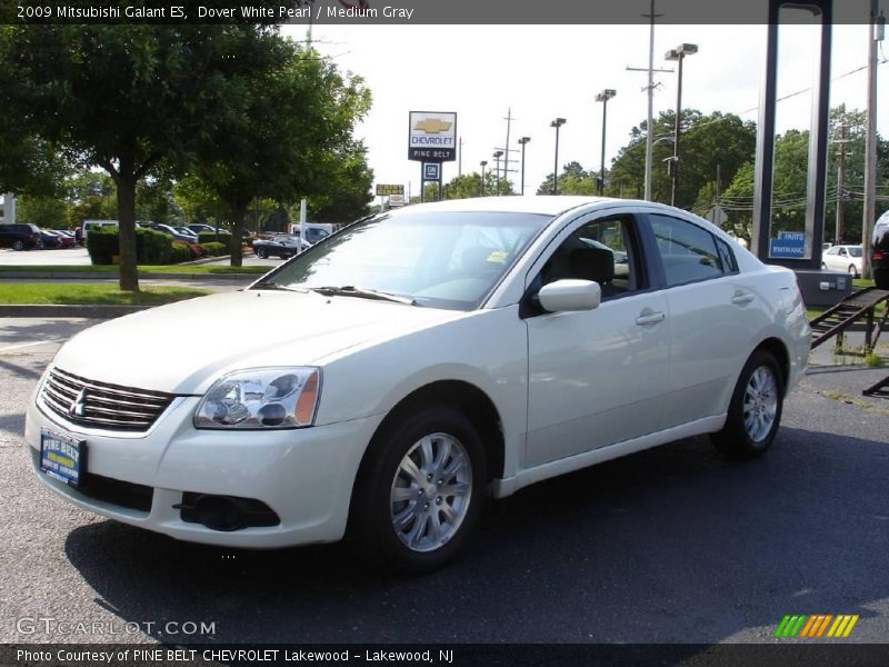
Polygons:
[[253,24],[0,27],[0,127],[23,119],[24,136],[113,179],[121,289],[139,289],[137,183],[164,159],[181,169],[242,116],[244,83],[272,68],[279,42]]

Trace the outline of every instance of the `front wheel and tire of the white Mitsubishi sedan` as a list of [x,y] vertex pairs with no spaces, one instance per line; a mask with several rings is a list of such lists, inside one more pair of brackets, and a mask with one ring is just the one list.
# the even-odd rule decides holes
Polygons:
[[485,450],[469,419],[440,406],[406,414],[374,437],[366,458],[350,522],[362,555],[409,573],[452,560],[485,500]]

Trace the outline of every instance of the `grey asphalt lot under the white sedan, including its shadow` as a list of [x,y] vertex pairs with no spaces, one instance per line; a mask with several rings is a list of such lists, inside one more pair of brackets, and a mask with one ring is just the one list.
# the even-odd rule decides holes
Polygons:
[[787,614],[858,614],[848,641],[889,639],[889,400],[859,396],[886,368],[812,367],[760,460],[693,438],[491,504],[465,558],[408,578],[340,546],[180,544],[44,491],[26,401],[90,323],[0,320],[0,641],[773,643]]

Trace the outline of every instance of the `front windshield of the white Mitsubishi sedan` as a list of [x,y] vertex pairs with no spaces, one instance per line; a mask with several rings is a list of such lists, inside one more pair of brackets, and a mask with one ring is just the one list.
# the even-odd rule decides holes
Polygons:
[[417,306],[472,310],[551,219],[505,212],[383,213],[298,255],[262,283],[363,298],[377,292]]

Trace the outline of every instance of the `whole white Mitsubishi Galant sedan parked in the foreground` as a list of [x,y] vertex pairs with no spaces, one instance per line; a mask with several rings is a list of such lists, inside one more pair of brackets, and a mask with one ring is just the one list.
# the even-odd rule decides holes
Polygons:
[[793,273],[685,211],[444,201],[81,332],[26,435],[39,479],[106,517],[231,547],[348,535],[424,570],[486,496],[699,434],[763,452],[809,337]]

